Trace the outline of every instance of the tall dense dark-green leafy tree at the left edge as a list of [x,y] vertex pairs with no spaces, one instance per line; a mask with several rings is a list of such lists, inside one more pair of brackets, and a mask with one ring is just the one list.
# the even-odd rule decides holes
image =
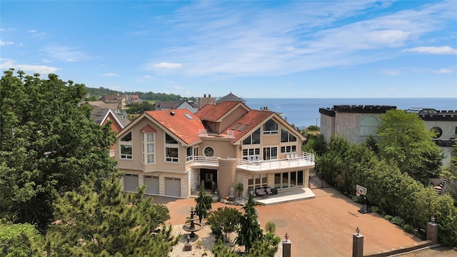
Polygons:
[[116,170],[109,156],[116,136],[79,104],[83,84],[13,71],[0,81],[1,216],[44,231],[54,220],[55,193],[79,188],[89,173],[103,178]]

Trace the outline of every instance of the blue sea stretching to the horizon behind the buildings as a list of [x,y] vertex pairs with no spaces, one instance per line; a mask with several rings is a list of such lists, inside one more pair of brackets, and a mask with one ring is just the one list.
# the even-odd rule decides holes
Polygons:
[[246,105],[254,110],[268,107],[271,111],[282,113],[290,124],[303,128],[320,126],[319,108],[333,108],[334,105],[383,105],[396,106],[406,110],[411,107],[433,108],[438,111],[457,110],[457,99],[244,99]]

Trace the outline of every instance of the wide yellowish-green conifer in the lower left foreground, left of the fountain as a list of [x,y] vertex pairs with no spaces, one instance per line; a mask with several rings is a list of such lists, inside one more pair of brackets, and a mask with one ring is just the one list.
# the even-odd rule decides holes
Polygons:
[[[171,236],[166,206],[138,193],[123,193],[119,178],[89,176],[81,193],[56,201],[56,223],[46,234],[48,256],[167,256],[180,237]],[[158,231],[158,228],[161,228]]]

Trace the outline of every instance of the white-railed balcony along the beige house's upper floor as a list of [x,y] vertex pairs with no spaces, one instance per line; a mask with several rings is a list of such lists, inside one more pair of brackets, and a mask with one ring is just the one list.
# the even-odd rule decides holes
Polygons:
[[[194,156],[194,164],[192,164],[193,168],[217,168],[218,166],[218,157]],[[273,171],[283,168],[313,167],[314,155],[312,153],[305,152],[301,152],[301,155],[293,158],[281,158],[261,161],[248,161],[243,159],[236,159],[236,168],[243,171]]]

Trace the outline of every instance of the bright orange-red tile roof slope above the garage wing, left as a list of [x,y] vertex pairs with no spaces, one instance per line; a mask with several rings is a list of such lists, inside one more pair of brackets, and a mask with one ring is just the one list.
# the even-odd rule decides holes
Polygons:
[[[184,143],[192,144],[201,141],[199,130],[205,129],[200,119],[187,109],[173,111],[146,111],[159,124],[178,136]],[[186,114],[186,115],[185,115]],[[188,117],[191,117],[189,119]]]

